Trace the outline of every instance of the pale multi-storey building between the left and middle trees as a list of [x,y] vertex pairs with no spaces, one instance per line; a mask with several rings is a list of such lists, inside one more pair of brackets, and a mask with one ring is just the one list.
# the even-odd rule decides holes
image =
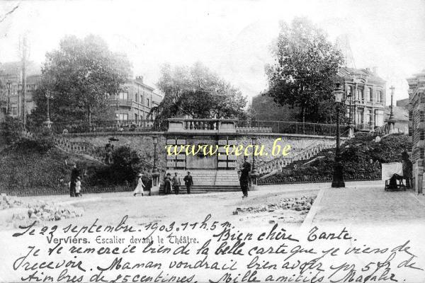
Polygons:
[[137,76],[123,85],[123,91],[109,97],[109,105],[113,120],[138,123],[147,120],[150,110],[162,99],[161,93],[145,84],[142,76]]

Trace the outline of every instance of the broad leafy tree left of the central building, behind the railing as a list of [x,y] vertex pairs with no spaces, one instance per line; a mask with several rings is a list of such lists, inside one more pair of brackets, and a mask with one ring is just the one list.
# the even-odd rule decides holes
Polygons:
[[59,50],[46,54],[34,115],[45,112],[47,93],[52,120],[81,121],[85,116],[90,124],[92,116],[106,110],[108,94],[118,93],[130,74],[128,58],[111,52],[101,37],[64,37]]

